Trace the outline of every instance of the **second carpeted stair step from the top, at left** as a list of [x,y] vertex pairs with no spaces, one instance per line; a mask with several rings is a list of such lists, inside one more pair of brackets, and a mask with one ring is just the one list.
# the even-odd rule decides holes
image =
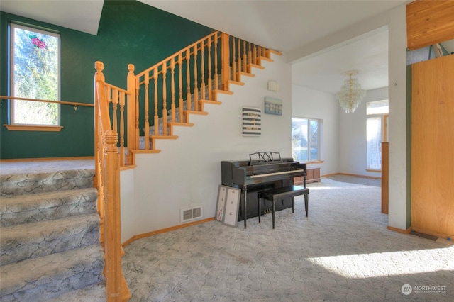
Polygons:
[[96,213],[97,197],[98,192],[94,188],[3,196],[0,204],[0,226]]

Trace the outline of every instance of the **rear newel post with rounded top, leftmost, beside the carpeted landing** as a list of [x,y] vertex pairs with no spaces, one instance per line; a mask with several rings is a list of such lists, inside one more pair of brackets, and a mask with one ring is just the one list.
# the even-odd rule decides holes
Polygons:
[[94,62],[94,180],[93,184],[96,189],[99,189],[99,152],[101,152],[101,138],[99,135],[99,102],[98,102],[98,91],[96,89],[96,81],[104,82],[105,77],[102,71],[104,70],[104,63],[101,61]]

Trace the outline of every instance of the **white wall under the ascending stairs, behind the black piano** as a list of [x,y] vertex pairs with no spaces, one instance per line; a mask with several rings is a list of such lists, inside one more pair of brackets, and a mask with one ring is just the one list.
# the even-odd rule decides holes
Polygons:
[[[134,192],[122,200],[122,242],[179,225],[180,208],[187,206],[201,205],[203,218],[214,217],[222,160],[247,160],[259,151],[291,157],[292,73],[284,56],[272,59],[262,63],[265,69],[253,69],[255,77],[243,77],[244,86],[232,86],[233,95],[219,94],[221,105],[206,105],[207,116],[190,116],[194,126],[177,128],[177,140],[158,141],[160,153],[138,154],[137,167],[121,172],[122,197]],[[270,80],[279,82],[280,91],[267,91]],[[282,99],[282,116],[263,113],[265,96]],[[243,106],[262,109],[260,137],[243,137]]]

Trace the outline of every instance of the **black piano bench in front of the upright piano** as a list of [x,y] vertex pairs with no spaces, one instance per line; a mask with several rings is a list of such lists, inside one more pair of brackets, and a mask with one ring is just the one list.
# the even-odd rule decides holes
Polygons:
[[265,191],[259,191],[257,194],[258,197],[258,222],[260,223],[260,199],[265,199],[267,201],[272,201],[272,228],[275,228],[275,211],[276,211],[276,201],[280,201],[284,198],[292,198],[292,213],[295,209],[295,196],[304,194],[304,208],[306,209],[306,217],[308,214],[309,206],[309,188],[304,186],[284,186],[282,188],[270,189]]

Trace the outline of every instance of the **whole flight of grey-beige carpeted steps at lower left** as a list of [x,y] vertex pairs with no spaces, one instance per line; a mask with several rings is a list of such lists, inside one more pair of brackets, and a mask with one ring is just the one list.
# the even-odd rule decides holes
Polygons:
[[2,172],[1,301],[106,301],[93,177]]

